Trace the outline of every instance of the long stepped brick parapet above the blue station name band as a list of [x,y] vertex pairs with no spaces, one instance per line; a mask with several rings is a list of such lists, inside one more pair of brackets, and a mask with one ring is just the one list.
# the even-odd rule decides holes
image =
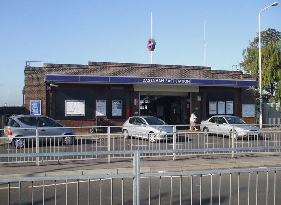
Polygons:
[[211,67],[135,64],[113,62],[89,62],[88,65],[44,64],[46,74],[180,77],[201,79],[255,80],[253,75],[240,71],[211,70]]

